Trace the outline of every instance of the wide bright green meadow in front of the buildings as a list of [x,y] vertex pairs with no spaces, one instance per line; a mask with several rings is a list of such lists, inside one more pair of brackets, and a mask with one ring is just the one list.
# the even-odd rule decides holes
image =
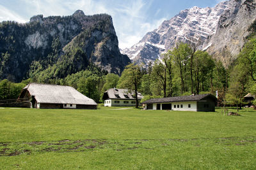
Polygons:
[[256,111],[0,109],[0,169],[256,169]]

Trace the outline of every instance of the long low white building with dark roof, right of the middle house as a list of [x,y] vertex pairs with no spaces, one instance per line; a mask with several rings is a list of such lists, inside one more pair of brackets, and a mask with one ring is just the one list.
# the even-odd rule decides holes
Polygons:
[[212,94],[198,94],[149,99],[141,104],[146,110],[215,111],[215,103],[216,97]]

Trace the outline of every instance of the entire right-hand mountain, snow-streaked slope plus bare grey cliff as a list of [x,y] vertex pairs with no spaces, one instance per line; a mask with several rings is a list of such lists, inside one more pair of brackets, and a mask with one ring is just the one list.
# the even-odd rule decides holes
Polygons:
[[158,29],[148,32],[131,48],[122,50],[134,62],[154,62],[161,53],[171,50],[180,41],[194,43],[213,57],[230,64],[250,35],[255,24],[255,0],[230,0],[214,8],[193,7],[164,21]]

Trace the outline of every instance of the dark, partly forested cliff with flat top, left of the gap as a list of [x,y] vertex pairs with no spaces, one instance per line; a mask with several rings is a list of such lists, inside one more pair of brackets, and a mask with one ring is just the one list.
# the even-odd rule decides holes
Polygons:
[[65,63],[65,59],[70,62],[75,60],[71,56],[74,51],[79,55],[78,48],[83,50],[78,58],[84,59],[76,60],[79,69],[71,69],[70,73],[86,69],[91,62],[120,74],[130,62],[127,55],[119,51],[111,16],[86,16],[81,10],[67,17],[36,15],[26,24],[0,23],[0,79],[28,78],[35,62],[40,62],[44,69],[58,62]]

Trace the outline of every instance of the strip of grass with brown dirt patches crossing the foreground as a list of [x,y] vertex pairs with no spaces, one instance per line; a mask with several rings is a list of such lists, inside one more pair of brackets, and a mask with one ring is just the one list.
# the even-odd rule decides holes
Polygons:
[[154,148],[168,148],[175,143],[201,147],[204,145],[255,145],[256,136],[228,137],[228,138],[194,138],[194,139],[120,139],[111,141],[106,139],[63,139],[60,141],[32,141],[16,143],[0,143],[0,156],[15,156],[20,154],[45,152],[86,152],[110,148],[122,150],[154,150]]

